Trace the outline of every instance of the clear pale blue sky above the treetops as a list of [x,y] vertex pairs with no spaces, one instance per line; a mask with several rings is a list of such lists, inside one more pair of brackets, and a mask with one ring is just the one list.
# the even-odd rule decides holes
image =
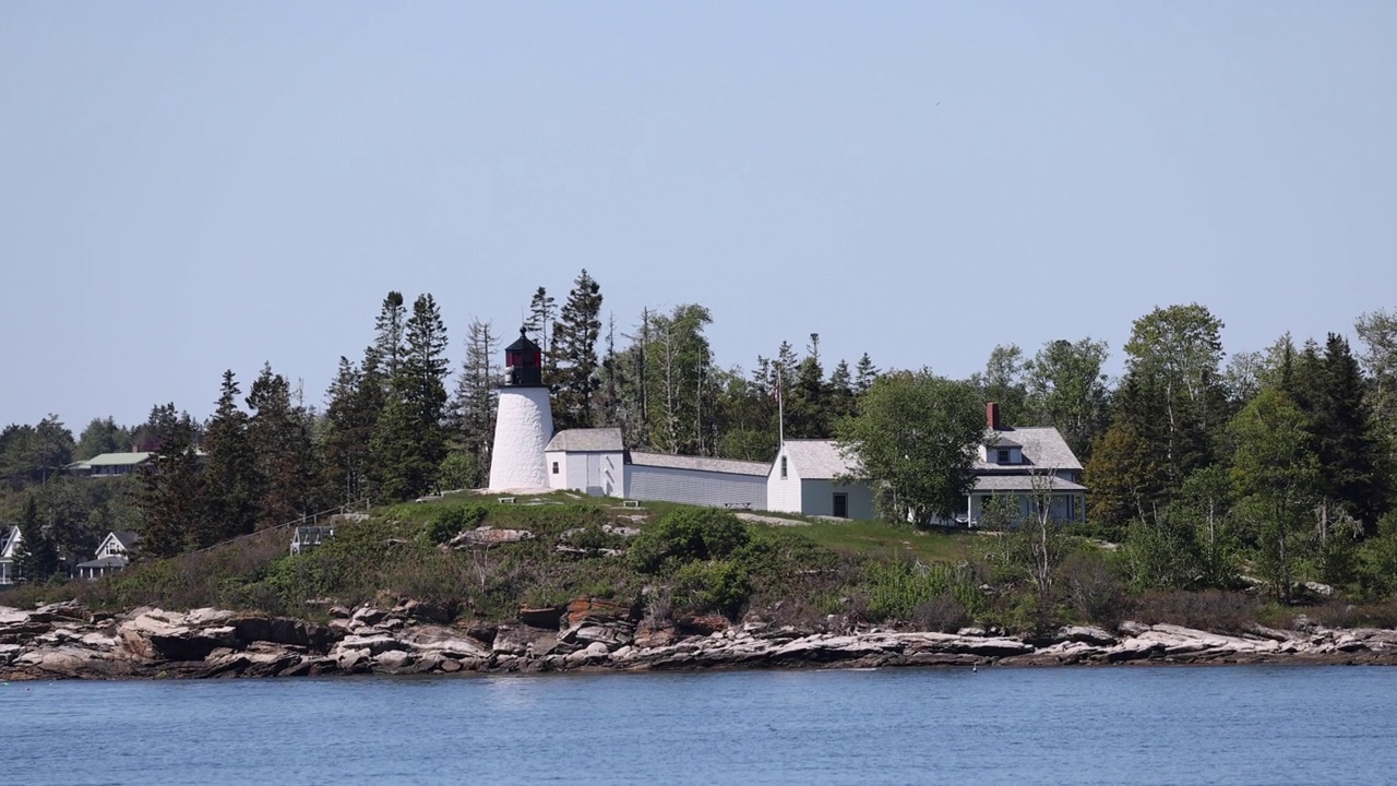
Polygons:
[[[388,290],[964,376],[1397,305],[1391,3],[0,3],[0,424],[323,393]],[[828,364],[827,364],[828,365]]]

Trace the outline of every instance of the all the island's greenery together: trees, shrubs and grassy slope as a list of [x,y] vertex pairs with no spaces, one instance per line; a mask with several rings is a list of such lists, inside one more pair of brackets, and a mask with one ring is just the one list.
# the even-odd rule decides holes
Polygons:
[[[1197,660],[1271,648],[1238,643],[1253,638],[1278,642],[1264,657],[1387,657],[1386,634],[1361,631],[1397,628],[1397,312],[1361,315],[1356,350],[1330,333],[1224,352],[1221,319],[1199,303],[1171,305],[1134,320],[1119,379],[1104,372],[1106,344],[1090,337],[1049,340],[1031,355],[996,347],[983,372],[949,379],[879,369],[868,354],[827,371],[833,358],[821,359],[817,334],[803,357],[782,344],[750,372],[724,368],[701,305],[645,309],[627,333],[615,320],[602,330],[601,303],[584,270],[563,303],[541,287],[528,309],[524,333],[539,338],[557,429],[616,427],[627,449],[768,466],[784,439],[833,439],[866,476],[841,480],[873,492],[880,520],[636,509],[567,492],[518,492],[514,503],[443,494],[486,484],[497,350],[513,326],[471,323],[448,394],[450,343],[436,301],[394,291],[362,359],[339,358],[323,408],[265,365],[246,396],[226,371],[205,421],[168,403],[134,428],[94,420],[78,439],[57,415],[0,431],[3,548],[14,551],[0,568],[3,580],[22,582],[0,593],[0,606],[21,610],[7,613],[15,617],[0,632],[0,662],[22,671],[87,638],[98,655],[70,652],[80,663],[112,663],[116,652],[141,669],[179,662],[149,638],[148,646],[122,639],[134,650],[103,643],[129,625],[191,624],[142,610],[226,610],[207,614],[337,631],[356,610],[409,601],[439,610],[430,624],[440,635],[489,645],[489,669],[521,652],[550,669],[569,657],[585,664],[578,653],[588,648],[597,657],[605,648],[599,663],[620,663],[624,648],[654,650],[651,635],[718,642],[739,632],[761,652],[754,662],[780,663],[893,663],[922,652],[916,635],[960,636],[970,648],[937,643],[918,657],[1048,659],[1069,643],[1106,648],[1063,655],[1076,662],[1126,659],[1111,648],[1136,648],[1146,660],[1185,655],[1179,648],[1211,653]],[[1062,434],[1071,471],[1078,460],[1083,469],[1085,520],[1056,519],[1048,484],[990,494],[978,513],[967,506],[975,457],[1002,436],[985,428],[988,403],[1006,425]],[[109,453],[134,463],[96,460]],[[1032,469],[1045,478],[1053,470]],[[289,527],[346,503],[363,512],[320,519],[334,537],[289,554]],[[963,512],[967,529],[937,529]],[[109,534],[129,536],[130,565],[98,580],[64,579],[81,565],[96,569],[91,555]],[[629,628],[569,639],[562,617],[549,615],[580,599],[619,607],[615,622]],[[91,621],[66,628],[34,617],[64,601]],[[497,656],[499,631],[518,625],[542,629],[546,646],[531,641]],[[1160,625],[1238,641],[1161,649],[1151,636],[1185,634]],[[1073,628],[1102,643],[1070,642],[1063,631]],[[826,645],[810,645],[819,655],[777,655],[753,643],[768,641],[761,631],[781,632],[770,641],[795,635],[781,646],[854,636],[848,645],[861,655]],[[328,669],[305,663],[363,634],[314,645],[219,635],[196,660],[217,649],[233,663],[268,642],[307,648],[288,666],[295,671]],[[977,655],[974,642],[985,639],[1018,643],[1013,655]],[[870,641],[894,643],[865,652]],[[398,645],[348,648],[369,653],[349,670],[360,660],[383,670],[430,660],[412,642]],[[345,669],[338,656],[335,669]]]

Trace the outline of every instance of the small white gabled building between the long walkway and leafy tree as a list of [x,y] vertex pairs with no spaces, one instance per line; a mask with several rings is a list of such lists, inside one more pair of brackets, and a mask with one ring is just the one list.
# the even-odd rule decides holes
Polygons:
[[873,490],[844,483],[856,460],[833,439],[788,439],[767,471],[767,509],[806,516],[872,519]]

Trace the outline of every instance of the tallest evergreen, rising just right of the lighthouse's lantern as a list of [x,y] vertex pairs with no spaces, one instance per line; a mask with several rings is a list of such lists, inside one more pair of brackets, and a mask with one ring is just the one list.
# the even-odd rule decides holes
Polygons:
[[590,427],[595,422],[594,396],[598,387],[597,341],[601,338],[601,285],[583,270],[553,326],[550,357],[557,371],[552,378],[556,392],[553,421],[559,429]]

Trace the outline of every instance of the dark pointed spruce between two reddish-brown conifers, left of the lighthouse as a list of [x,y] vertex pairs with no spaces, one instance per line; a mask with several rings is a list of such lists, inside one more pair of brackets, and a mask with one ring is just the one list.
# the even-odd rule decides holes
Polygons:
[[196,533],[198,545],[253,531],[257,526],[258,477],[247,436],[247,414],[237,406],[240,390],[232,371],[224,372],[218,408],[208,421],[204,480],[208,527]]

